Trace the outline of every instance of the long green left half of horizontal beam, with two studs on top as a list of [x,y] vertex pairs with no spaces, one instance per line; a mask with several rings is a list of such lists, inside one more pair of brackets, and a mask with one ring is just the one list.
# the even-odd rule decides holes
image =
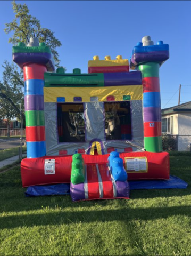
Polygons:
[[80,69],[73,73],[64,73],[57,69],[56,73],[44,73],[45,87],[100,87],[104,86],[103,73],[81,74]]

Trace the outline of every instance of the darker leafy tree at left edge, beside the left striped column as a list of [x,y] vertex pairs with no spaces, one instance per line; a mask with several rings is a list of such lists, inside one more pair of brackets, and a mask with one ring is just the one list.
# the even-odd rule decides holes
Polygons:
[[[2,65],[4,70],[2,74],[2,82],[0,82],[0,107],[1,114],[7,116],[6,108],[9,108],[9,116],[20,117],[20,103],[22,105],[22,119],[25,120],[24,116],[24,93],[23,93],[23,73],[18,71],[18,67],[13,63],[10,64],[8,61],[4,61]],[[14,116],[12,116],[12,114]]]

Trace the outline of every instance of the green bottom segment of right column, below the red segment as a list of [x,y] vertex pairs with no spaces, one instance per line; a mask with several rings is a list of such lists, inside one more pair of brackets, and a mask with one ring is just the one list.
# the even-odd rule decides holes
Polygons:
[[144,137],[144,145],[148,152],[162,152],[162,137]]

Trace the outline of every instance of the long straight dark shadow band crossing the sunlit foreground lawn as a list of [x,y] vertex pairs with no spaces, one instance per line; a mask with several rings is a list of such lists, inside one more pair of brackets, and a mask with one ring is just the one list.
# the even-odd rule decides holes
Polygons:
[[0,229],[12,229],[18,227],[33,227],[47,225],[62,225],[71,223],[131,221],[131,220],[155,220],[168,218],[174,215],[187,215],[191,217],[190,206],[172,206],[155,208],[121,208],[120,210],[90,210],[90,211],[62,211],[42,212],[40,214],[28,214],[0,218]]

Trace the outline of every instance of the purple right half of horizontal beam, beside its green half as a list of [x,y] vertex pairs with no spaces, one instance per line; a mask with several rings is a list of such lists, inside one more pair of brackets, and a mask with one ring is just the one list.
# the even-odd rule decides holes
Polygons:
[[138,85],[142,84],[141,71],[104,73],[104,85]]

